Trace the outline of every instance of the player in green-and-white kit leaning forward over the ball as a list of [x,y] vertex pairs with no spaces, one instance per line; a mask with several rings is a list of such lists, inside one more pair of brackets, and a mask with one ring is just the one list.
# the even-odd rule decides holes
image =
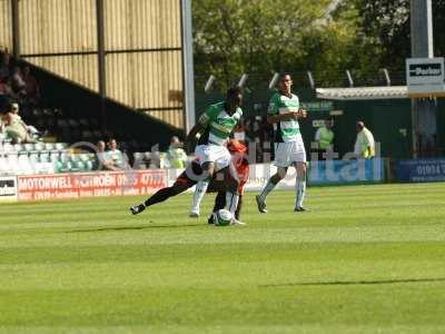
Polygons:
[[229,173],[226,173],[228,183],[226,209],[235,215],[239,199],[239,180],[233,169],[231,157],[225,145],[241,119],[241,90],[239,88],[228,89],[226,101],[209,106],[187,136],[187,143],[194,143],[197,137],[199,138],[195,155],[202,168],[202,177],[196,185],[190,217],[199,216],[200,203],[214,173],[227,166],[229,166]]

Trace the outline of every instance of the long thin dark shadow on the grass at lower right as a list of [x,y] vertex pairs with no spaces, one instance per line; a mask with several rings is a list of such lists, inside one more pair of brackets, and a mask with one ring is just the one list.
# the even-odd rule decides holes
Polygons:
[[409,284],[445,282],[445,277],[438,278],[407,278],[407,279],[382,279],[382,281],[334,281],[334,282],[301,282],[285,284],[267,284],[260,287],[291,287],[291,286],[324,286],[324,285],[378,285],[378,284]]

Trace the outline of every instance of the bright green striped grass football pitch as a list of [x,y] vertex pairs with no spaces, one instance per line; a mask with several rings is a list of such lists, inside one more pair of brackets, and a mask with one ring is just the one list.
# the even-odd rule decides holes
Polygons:
[[254,195],[230,227],[189,194],[0,205],[0,333],[445,332],[445,184]]

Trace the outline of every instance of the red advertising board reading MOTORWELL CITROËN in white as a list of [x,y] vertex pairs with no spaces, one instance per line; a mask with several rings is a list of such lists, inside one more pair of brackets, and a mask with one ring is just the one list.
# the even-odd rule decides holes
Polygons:
[[151,194],[167,185],[167,173],[154,170],[97,171],[18,176],[20,200]]

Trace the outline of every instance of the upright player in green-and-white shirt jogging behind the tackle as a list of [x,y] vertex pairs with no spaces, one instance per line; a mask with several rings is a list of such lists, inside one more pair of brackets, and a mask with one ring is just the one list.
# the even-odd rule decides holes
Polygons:
[[270,177],[261,194],[256,196],[258,210],[263,214],[267,213],[267,195],[285,178],[290,165],[295,165],[297,169],[295,212],[306,210],[303,206],[306,193],[306,150],[298,118],[305,118],[307,112],[299,108],[298,97],[291,94],[291,85],[290,75],[281,73],[279,90],[273,95],[269,102],[267,121],[274,125],[275,166],[278,170]]

